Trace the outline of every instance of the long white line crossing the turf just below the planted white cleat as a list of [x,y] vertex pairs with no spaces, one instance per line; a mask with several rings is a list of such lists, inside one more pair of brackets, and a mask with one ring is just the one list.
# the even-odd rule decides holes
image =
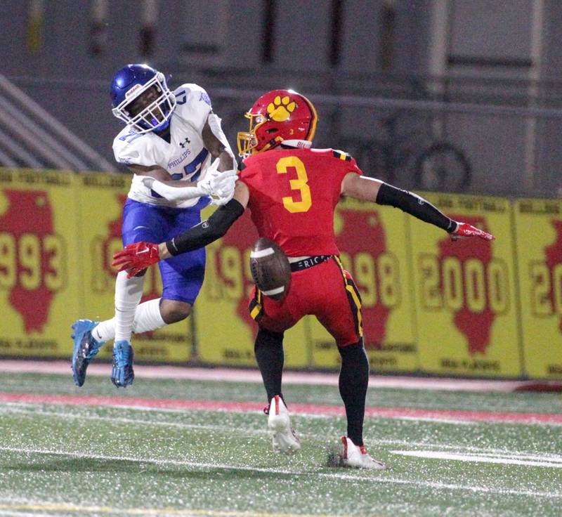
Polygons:
[[[353,474],[338,474],[338,473],[325,473],[318,471],[292,471],[289,469],[265,469],[263,467],[251,467],[251,466],[240,466],[240,465],[229,465],[229,464],[218,464],[218,463],[203,463],[203,462],[185,462],[174,459],[150,459],[150,458],[135,458],[127,456],[108,456],[104,454],[83,454],[78,452],[65,452],[65,451],[53,451],[53,450],[43,450],[43,449],[26,449],[25,447],[0,447],[0,450],[8,452],[18,452],[21,454],[46,454],[51,456],[65,456],[73,457],[79,459],[105,459],[110,461],[119,462],[133,462],[133,463],[148,463],[155,465],[176,465],[176,466],[190,466],[192,468],[202,469],[202,470],[212,470],[212,469],[224,469],[224,470],[242,470],[251,472],[263,472],[263,473],[273,473],[273,474],[285,474],[289,476],[302,476],[302,477],[315,477],[328,478],[334,480],[353,480],[355,482],[362,483],[387,483],[391,485],[414,485],[418,487],[429,487],[436,488],[438,490],[464,490],[474,493],[485,493],[485,494],[496,494],[496,495],[523,495],[530,497],[546,497],[548,499],[562,499],[562,492],[554,492],[547,490],[517,490],[511,488],[503,487],[478,487],[478,486],[465,486],[456,485],[454,483],[437,483],[433,481],[420,481],[420,480],[409,480],[403,478],[384,478],[374,476],[374,471],[356,470],[358,475]],[[415,452],[415,451],[414,451]],[[346,469],[351,470],[351,469]],[[377,471],[378,476],[384,476],[385,472],[390,473],[390,471]],[[228,513],[227,513],[228,515]]]

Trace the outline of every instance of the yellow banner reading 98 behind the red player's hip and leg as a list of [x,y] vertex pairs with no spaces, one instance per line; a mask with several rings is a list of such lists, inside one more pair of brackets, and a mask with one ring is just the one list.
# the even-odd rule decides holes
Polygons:
[[[405,214],[345,199],[336,209],[334,223],[341,261],[361,294],[365,349],[372,371],[413,372],[417,348]],[[310,325],[313,365],[339,367],[332,336],[315,318]]]

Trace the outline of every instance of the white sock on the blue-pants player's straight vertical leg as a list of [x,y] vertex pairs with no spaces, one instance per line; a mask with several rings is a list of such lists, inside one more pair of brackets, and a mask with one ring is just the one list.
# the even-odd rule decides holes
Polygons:
[[126,271],[115,281],[115,341],[131,341],[135,311],[143,296],[144,276],[127,278]]

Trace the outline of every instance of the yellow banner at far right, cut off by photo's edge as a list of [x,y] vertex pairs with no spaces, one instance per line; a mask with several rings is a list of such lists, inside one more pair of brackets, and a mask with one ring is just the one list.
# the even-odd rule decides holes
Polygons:
[[562,378],[562,201],[518,199],[517,261],[525,371]]

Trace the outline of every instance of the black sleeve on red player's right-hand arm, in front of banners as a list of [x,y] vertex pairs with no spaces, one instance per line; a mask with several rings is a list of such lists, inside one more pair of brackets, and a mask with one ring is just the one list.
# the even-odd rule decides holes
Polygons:
[[456,221],[448,218],[443,212],[433,207],[429,201],[426,201],[419,195],[412,194],[407,190],[383,183],[377,194],[377,203],[389,204],[391,207],[399,208],[414,217],[417,217],[425,223],[430,223],[443,228],[446,232],[454,232],[457,229]]

